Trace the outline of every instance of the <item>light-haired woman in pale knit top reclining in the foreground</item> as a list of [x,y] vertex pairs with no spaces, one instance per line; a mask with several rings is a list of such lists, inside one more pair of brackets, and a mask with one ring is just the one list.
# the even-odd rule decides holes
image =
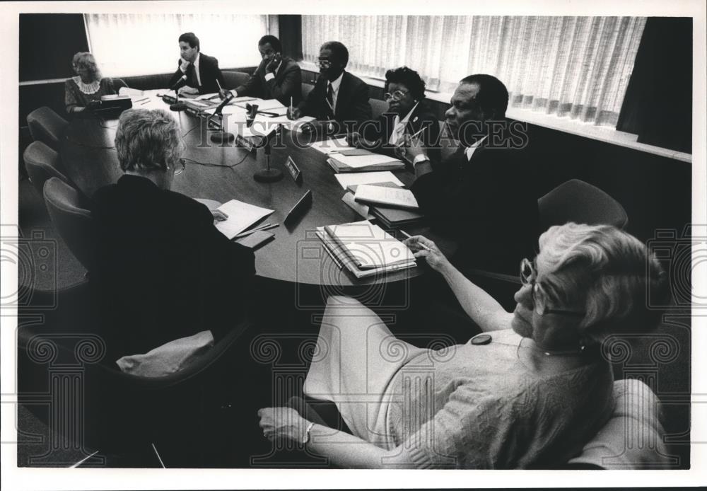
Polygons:
[[648,288],[665,291],[658,261],[612,226],[551,227],[508,313],[432,241],[407,243],[489,333],[423,350],[356,301],[329,299],[305,393],[334,401],[352,434],[266,408],[265,436],[344,467],[547,468],[579,454],[614,408],[601,342],[656,324],[644,306]]

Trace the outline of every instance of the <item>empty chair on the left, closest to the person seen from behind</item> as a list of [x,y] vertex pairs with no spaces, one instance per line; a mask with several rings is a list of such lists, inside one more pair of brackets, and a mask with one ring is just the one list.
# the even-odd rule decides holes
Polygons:
[[47,211],[59,235],[76,259],[90,271],[93,229],[90,212],[82,206],[81,195],[64,181],[52,177],[44,185],[44,197]]

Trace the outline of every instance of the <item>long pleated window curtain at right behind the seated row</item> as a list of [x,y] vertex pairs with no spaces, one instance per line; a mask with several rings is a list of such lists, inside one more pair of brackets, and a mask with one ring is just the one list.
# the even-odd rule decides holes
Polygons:
[[316,62],[322,42],[339,40],[349,70],[382,79],[407,65],[435,91],[491,74],[511,107],[615,127],[644,25],[643,17],[302,16],[302,47]]

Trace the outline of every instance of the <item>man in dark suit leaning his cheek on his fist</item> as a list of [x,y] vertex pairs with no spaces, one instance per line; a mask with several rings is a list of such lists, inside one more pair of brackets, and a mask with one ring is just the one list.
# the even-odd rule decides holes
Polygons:
[[280,40],[264,35],[258,42],[258,51],[262,62],[245,85],[232,91],[233,95],[277,99],[286,106],[299,104],[302,100],[302,70],[295,60],[282,56]]

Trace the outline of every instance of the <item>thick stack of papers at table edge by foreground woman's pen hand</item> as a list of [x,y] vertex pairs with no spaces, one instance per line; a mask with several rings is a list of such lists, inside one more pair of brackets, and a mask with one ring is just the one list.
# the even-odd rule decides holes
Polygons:
[[416,265],[409,248],[368,220],[317,228],[327,253],[357,278]]

